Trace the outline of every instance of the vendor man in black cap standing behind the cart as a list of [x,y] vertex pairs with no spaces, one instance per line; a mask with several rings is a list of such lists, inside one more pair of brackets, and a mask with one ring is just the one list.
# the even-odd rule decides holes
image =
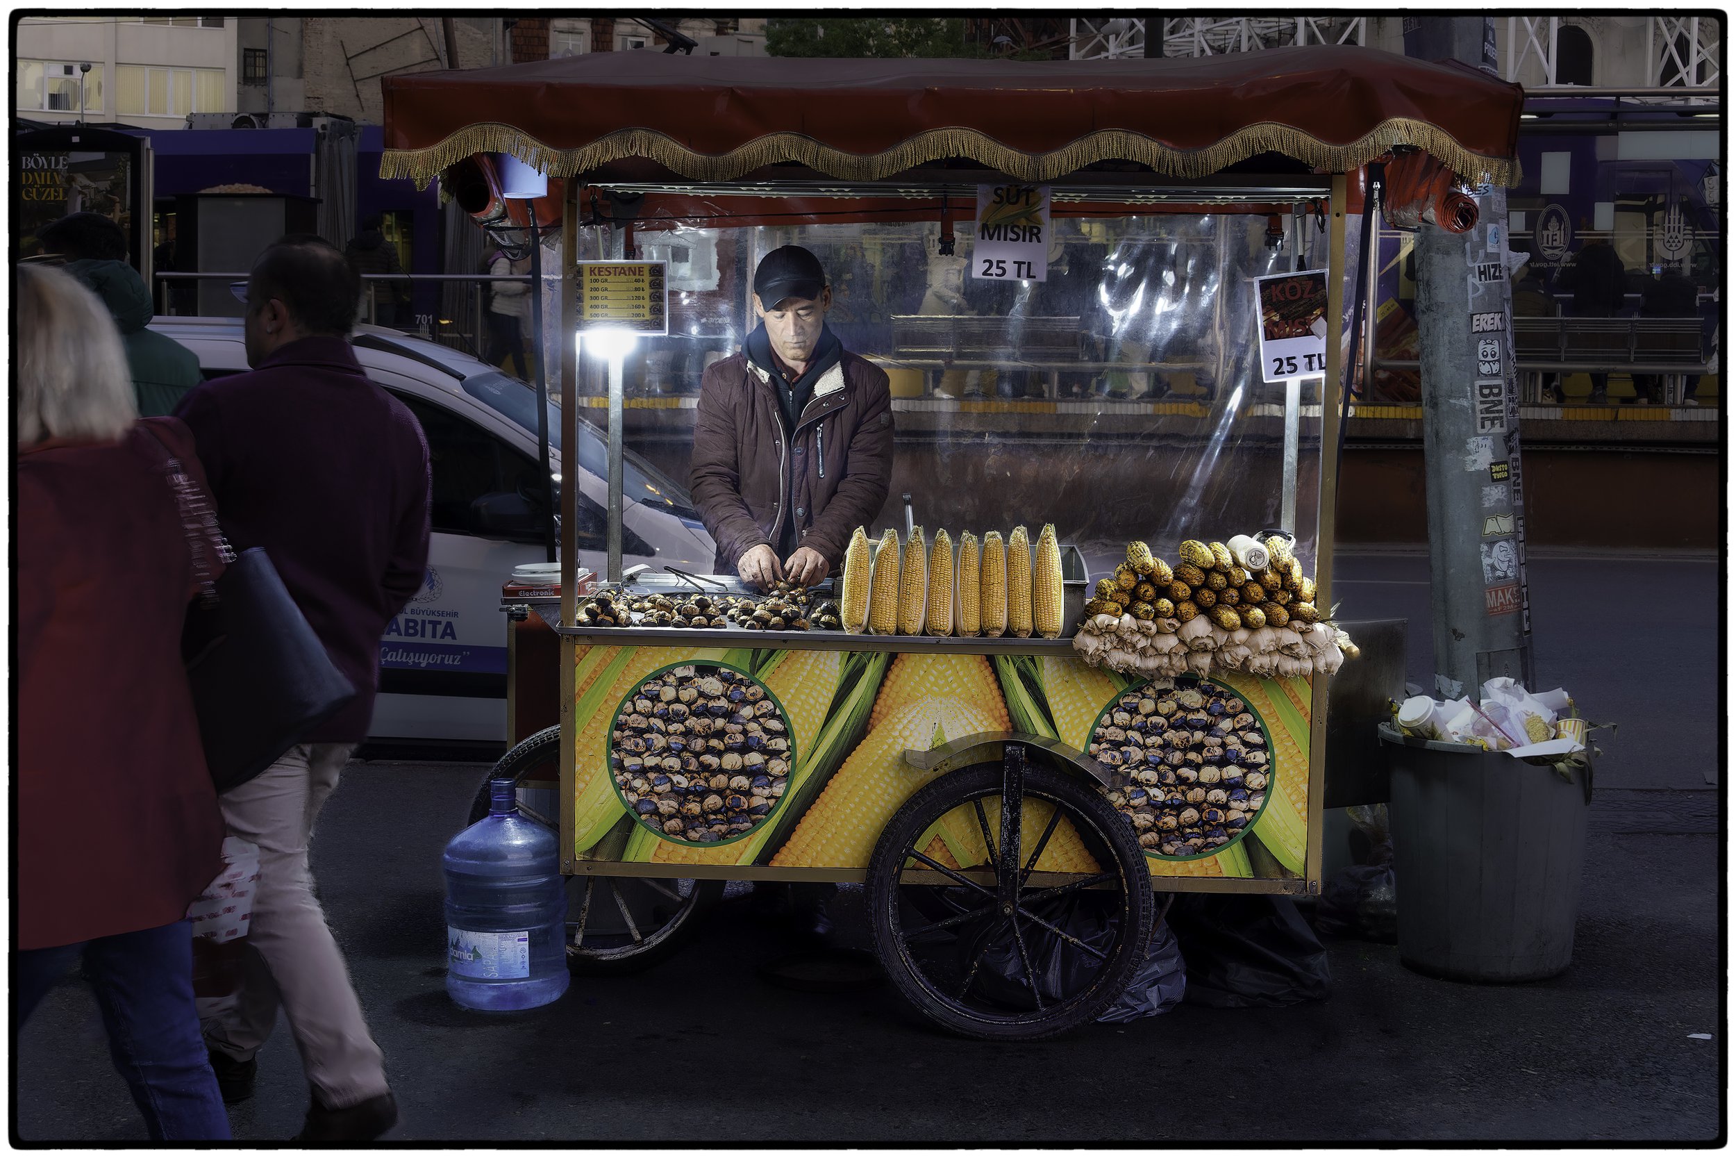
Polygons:
[[717,573],[760,590],[833,573],[892,484],[887,375],[838,344],[828,309],[819,259],[799,245],[773,250],[753,273],[760,325],[700,387],[693,500]]

